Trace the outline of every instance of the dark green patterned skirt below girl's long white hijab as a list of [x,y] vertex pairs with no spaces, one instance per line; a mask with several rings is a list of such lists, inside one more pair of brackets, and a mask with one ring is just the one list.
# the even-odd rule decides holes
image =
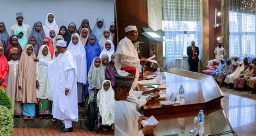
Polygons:
[[52,113],[52,102],[48,99],[39,99],[38,114],[48,115]]

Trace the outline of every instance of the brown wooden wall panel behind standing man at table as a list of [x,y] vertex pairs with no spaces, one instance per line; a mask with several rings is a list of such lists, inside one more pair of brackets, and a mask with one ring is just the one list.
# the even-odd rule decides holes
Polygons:
[[[124,38],[124,28],[129,25],[137,26],[139,35],[137,41],[143,41],[144,58],[148,58],[148,39],[144,37],[142,28],[148,27],[147,0],[116,0],[116,32],[117,43]],[[117,46],[117,44],[115,44]]]

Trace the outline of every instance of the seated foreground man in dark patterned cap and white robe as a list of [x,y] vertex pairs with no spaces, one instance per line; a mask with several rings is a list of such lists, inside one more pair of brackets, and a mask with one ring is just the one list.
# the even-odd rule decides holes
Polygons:
[[124,100],[129,96],[134,75],[124,70],[115,71],[115,135],[144,136],[154,132],[156,125],[146,125],[141,128],[142,119],[133,103]]

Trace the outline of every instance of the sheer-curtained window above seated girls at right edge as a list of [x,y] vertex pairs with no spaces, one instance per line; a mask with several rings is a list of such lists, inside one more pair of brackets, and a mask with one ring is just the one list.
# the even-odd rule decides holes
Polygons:
[[[250,8],[244,7],[244,1],[248,2],[247,7]],[[250,6],[250,3],[254,3],[254,6]],[[230,0],[229,52],[230,57],[238,56],[240,61],[244,57],[248,57],[249,60],[255,57],[255,5],[251,0]]]

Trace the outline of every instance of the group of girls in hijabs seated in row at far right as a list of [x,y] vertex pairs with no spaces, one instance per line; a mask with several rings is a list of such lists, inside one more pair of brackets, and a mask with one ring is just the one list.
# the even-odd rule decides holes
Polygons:
[[[255,59],[256,60],[256,59]],[[239,62],[238,57],[234,57],[234,60],[231,61],[230,58],[227,60],[221,59],[218,66],[214,62],[212,66],[208,66],[207,70],[203,71],[203,74],[209,74],[214,77],[219,86],[225,82],[228,84],[228,88],[233,90],[242,90],[245,83],[247,82],[248,88],[255,89],[255,86],[252,84],[256,83],[255,79],[251,79],[254,74],[254,64],[253,60],[251,64],[248,63],[248,58],[244,58],[243,61]],[[234,65],[237,65],[234,70]],[[245,68],[247,66],[247,68]],[[255,80],[255,82],[253,82]],[[249,89],[250,90],[250,89]],[[249,94],[254,93],[255,91],[249,92]]]

